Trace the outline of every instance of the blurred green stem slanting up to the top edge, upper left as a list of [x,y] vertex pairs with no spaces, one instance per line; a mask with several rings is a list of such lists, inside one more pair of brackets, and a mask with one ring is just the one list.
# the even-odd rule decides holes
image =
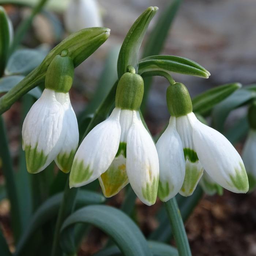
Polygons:
[[29,17],[24,19],[23,22],[20,23],[20,25],[18,26],[18,28],[15,31],[14,40],[12,42],[12,45],[10,46],[10,49],[9,49],[9,55],[11,55],[11,53],[14,52],[15,49],[17,48],[17,46],[20,44],[20,42],[22,41],[22,39],[23,39],[24,35],[26,34],[27,30],[31,26],[31,23],[32,23],[35,15],[37,15],[42,10],[46,1],[47,0],[40,0],[38,2],[38,4],[35,5],[35,7],[32,9],[31,14],[29,15]]

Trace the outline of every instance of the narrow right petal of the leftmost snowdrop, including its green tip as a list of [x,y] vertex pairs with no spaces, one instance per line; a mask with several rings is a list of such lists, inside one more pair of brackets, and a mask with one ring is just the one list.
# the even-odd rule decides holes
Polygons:
[[68,103],[64,109],[64,129],[66,129],[66,135],[61,147],[60,153],[57,155],[55,162],[57,166],[65,173],[68,173],[71,169],[71,165],[78,146],[79,131],[78,123],[76,120],[75,112],[71,106],[68,98]]

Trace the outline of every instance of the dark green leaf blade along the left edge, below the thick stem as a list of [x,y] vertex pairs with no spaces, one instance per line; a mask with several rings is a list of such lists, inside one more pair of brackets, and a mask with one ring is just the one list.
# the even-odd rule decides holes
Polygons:
[[15,240],[18,240],[22,226],[20,220],[20,209],[15,183],[12,159],[8,147],[7,134],[4,126],[3,117],[0,116],[0,158],[2,160],[2,170],[5,178],[5,187],[11,203],[11,222]]

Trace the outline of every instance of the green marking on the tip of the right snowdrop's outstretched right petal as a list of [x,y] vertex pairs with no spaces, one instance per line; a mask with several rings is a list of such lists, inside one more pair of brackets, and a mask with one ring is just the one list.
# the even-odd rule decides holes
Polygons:
[[249,189],[248,177],[245,167],[242,163],[239,163],[241,169],[235,169],[236,175],[229,175],[233,185],[241,192],[246,193]]

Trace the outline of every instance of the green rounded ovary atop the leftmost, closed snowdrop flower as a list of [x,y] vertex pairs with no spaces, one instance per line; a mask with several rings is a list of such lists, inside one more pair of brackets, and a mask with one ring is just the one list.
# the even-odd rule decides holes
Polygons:
[[68,93],[74,78],[74,64],[67,51],[54,57],[45,76],[45,88],[58,93]]

